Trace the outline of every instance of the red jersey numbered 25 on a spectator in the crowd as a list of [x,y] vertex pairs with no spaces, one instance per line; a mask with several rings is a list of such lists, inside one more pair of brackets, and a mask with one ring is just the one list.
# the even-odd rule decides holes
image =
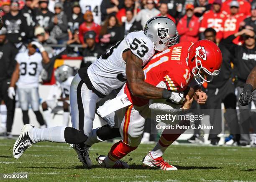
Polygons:
[[204,32],[206,28],[214,28],[217,33],[219,31],[222,31],[224,18],[225,14],[223,14],[222,12],[215,13],[212,10],[206,11],[205,14],[202,16],[199,31]]

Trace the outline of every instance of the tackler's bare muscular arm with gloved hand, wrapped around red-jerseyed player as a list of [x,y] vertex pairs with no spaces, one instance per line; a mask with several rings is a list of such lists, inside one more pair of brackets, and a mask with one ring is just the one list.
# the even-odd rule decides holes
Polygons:
[[[179,97],[177,93],[167,89],[158,88],[144,82],[144,72],[141,68],[142,60],[134,55],[130,50],[126,52],[126,77],[130,90],[134,96],[145,99],[175,99]],[[177,94],[177,96],[175,95]],[[181,98],[180,100],[182,100]],[[174,101],[174,100],[173,100]],[[174,101],[175,102],[175,101]]]

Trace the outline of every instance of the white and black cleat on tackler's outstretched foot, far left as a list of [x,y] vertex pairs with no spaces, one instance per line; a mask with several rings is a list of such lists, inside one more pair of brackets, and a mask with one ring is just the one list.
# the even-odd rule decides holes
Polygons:
[[30,124],[23,126],[20,136],[18,137],[13,146],[13,157],[15,159],[19,159],[21,155],[23,155],[25,150],[32,146],[33,142],[28,135],[28,131],[32,128],[33,126]]

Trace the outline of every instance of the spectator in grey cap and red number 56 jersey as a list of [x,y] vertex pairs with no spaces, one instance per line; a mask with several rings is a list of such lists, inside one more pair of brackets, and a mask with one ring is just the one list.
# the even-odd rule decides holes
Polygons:
[[[239,31],[241,22],[246,18],[243,13],[239,13],[239,3],[236,0],[230,2],[230,14],[226,15],[223,21],[223,30],[218,32],[219,37],[227,38],[229,35],[233,35]],[[240,36],[233,40],[233,43],[241,45]]]

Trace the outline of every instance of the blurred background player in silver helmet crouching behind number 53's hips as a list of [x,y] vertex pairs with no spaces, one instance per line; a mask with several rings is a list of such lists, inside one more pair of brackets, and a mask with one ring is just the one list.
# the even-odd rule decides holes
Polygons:
[[73,74],[74,69],[68,65],[61,65],[54,71],[55,79],[59,83],[58,85],[61,88],[61,97],[52,98],[42,103],[44,118],[47,121],[47,125],[51,125],[51,111],[48,108],[51,108],[51,110],[53,110],[57,105],[63,107],[63,126],[69,125],[69,89],[71,82],[74,78]]

